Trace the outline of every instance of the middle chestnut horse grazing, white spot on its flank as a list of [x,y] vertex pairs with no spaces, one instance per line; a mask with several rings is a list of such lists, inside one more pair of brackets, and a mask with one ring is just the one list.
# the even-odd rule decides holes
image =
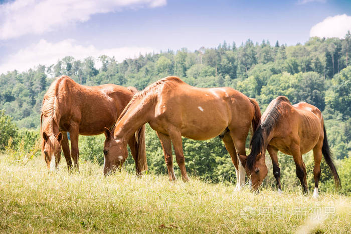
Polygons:
[[106,129],[105,169],[123,164],[127,140],[137,128],[149,123],[161,142],[170,180],[175,180],[171,142],[182,178],[187,181],[182,136],[206,140],[219,135],[236,167],[240,189],[245,183],[245,170],[238,163],[237,152],[246,155],[246,137],[251,125],[256,129],[260,117],[257,102],[232,88],[196,88],[178,77],[163,78],[134,95],[113,134]]

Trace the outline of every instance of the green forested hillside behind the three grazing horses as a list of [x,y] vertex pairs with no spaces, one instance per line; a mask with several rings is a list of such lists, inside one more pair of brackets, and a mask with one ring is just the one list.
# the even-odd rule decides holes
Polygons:
[[[180,77],[197,87],[232,87],[256,98],[261,111],[279,95],[291,103],[305,101],[323,114],[328,141],[341,178],[341,191],[351,193],[351,34],[343,39],[310,38],[295,46],[273,45],[250,39],[240,46],[221,43],[217,48],[196,51],[182,48],[139,55],[116,61],[101,55],[76,60],[65,57],[51,66],[38,65],[26,72],[9,71],[0,75],[0,149],[32,152],[39,141],[43,96],[56,77],[67,75],[79,84],[106,83],[134,86],[138,90],[166,76]],[[9,142],[10,141],[10,142]],[[80,136],[80,159],[103,163],[104,136]],[[247,140],[247,143],[249,139]],[[183,140],[186,167],[204,180],[235,184],[235,169],[222,141]],[[162,149],[155,132],[147,126],[148,173],[166,173]],[[268,153],[267,153],[268,155]],[[279,154],[283,186],[299,184],[292,156]],[[313,183],[313,155],[304,155],[309,187]],[[66,162],[62,162],[66,164]],[[271,166],[270,158],[267,164]],[[44,165],[44,162],[43,162]],[[178,165],[174,165],[178,167]],[[127,170],[134,162],[128,157]],[[269,168],[265,186],[275,187]],[[102,172],[101,172],[102,173]],[[176,173],[180,173],[178,168]],[[332,190],[332,176],[324,160],[320,190]]]

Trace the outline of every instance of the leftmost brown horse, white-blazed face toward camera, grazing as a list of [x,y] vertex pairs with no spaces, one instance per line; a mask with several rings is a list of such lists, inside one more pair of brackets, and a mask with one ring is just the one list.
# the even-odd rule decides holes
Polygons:
[[[78,166],[78,135],[97,135],[112,127],[116,119],[137,92],[133,87],[118,85],[84,86],[63,76],[57,78],[46,92],[41,114],[42,155],[51,170],[61,158],[61,146],[68,169]],[[147,169],[145,127],[135,129],[137,138],[128,141],[137,173]],[[70,133],[71,151],[67,132]]]

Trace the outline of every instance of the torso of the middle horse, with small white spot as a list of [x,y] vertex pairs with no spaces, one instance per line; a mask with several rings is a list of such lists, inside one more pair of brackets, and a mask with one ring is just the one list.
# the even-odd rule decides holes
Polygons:
[[[183,136],[196,140],[218,136],[233,125],[232,120],[238,122],[236,125],[247,120],[245,124],[250,128],[254,113],[250,100],[228,87],[198,88],[178,82],[163,85],[157,97],[155,117],[177,126]],[[242,116],[247,113],[252,116]]]

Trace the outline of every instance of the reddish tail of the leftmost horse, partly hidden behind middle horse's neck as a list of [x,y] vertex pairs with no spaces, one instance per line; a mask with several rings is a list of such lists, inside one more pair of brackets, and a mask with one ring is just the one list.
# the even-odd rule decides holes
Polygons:
[[[138,90],[135,87],[129,86],[129,89],[133,95],[138,93]],[[147,170],[147,160],[146,160],[146,148],[145,148],[145,124],[142,125],[135,132],[136,144],[137,144],[137,165],[140,172]]]

